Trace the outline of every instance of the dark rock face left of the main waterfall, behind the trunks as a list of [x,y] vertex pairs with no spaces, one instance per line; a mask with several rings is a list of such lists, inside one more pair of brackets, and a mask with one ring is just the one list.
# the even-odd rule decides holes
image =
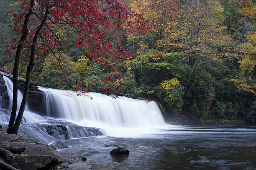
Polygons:
[[[3,79],[3,76],[6,76],[10,78],[10,80],[13,80],[13,75],[1,72],[0,74],[0,107],[4,109],[9,108],[9,102],[10,102],[10,97],[7,92],[7,87],[5,85],[5,80]],[[25,84],[26,79],[18,77],[18,87],[19,90],[23,92],[24,84]],[[41,90],[38,90],[39,84],[36,82],[30,82],[30,87],[29,87],[29,93],[28,93],[28,108],[32,112],[37,112],[40,115],[46,115],[46,108],[44,107],[44,92]]]

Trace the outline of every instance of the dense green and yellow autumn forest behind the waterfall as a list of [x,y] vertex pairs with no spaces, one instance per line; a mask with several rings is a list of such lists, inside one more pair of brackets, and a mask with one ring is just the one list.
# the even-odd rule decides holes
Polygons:
[[[11,52],[8,45],[20,34],[13,32],[15,22],[8,12],[20,10],[17,6],[21,1],[0,2],[0,67],[12,72],[15,49]],[[81,85],[90,92],[154,100],[166,117],[187,115],[197,122],[243,117],[255,122],[255,0],[120,3],[143,16],[143,24],[147,25],[143,34],[128,31],[116,39],[131,52],[128,57],[114,60],[114,54],[108,51],[105,67],[106,62],[91,57],[92,47],[86,43],[77,47],[76,32],[52,25],[62,49],[42,47],[35,55],[31,80],[44,87],[74,90]],[[33,28],[33,24],[29,27]],[[125,24],[122,27],[128,30]],[[18,66],[21,77],[26,77],[28,56],[25,50]],[[116,77],[113,88],[107,88],[102,81],[109,74]]]

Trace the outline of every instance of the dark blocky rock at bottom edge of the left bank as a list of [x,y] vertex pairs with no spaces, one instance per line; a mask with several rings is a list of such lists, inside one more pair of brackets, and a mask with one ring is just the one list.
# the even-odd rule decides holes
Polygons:
[[19,165],[22,170],[37,170],[41,168],[45,170],[51,165],[57,164],[57,158],[49,155],[18,155],[15,158],[15,162]]

